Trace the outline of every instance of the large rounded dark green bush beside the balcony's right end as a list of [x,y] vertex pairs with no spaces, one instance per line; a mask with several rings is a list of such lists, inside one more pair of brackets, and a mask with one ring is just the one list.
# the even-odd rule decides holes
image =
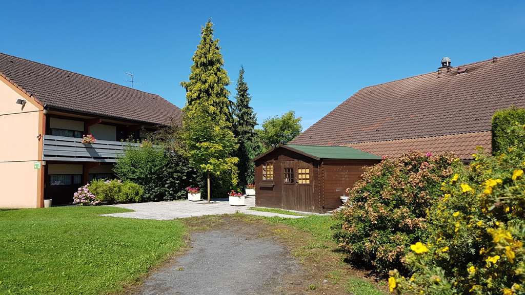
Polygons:
[[169,201],[186,196],[184,188],[195,185],[198,175],[179,153],[151,143],[129,148],[117,159],[113,171],[123,181],[140,184],[144,201]]

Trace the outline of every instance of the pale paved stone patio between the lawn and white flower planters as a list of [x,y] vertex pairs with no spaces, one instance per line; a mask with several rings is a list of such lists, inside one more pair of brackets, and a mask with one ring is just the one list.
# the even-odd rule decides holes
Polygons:
[[191,202],[187,200],[179,200],[171,202],[119,204],[112,206],[132,209],[134,210],[134,212],[104,214],[103,216],[167,220],[176,218],[197,217],[203,215],[234,214],[236,212],[240,212],[244,214],[266,217],[303,217],[248,210],[249,207],[255,207],[255,197],[246,197],[246,206],[230,206],[227,198],[212,199],[212,202],[209,204],[207,203],[207,201]]

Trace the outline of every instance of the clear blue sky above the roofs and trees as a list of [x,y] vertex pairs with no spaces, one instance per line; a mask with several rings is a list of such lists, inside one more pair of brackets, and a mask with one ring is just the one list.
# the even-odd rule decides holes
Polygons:
[[9,1],[0,52],[158,93],[179,107],[211,17],[225,68],[241,65],[259,122],[307,128],[360,88],[525,51],[523,1]]

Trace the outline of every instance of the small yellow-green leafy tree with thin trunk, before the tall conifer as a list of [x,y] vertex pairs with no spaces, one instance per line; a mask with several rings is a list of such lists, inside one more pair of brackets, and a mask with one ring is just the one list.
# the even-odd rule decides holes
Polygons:
[[228,174],[233,185],[237,184],[237,157],[231,156],[238,148],[229,123],[220,117],[208,118],[207,104],[195,103],[184,113],[180,133],[183,151],[193,167],[207,178],[208,202],[211,198],[211,175]]

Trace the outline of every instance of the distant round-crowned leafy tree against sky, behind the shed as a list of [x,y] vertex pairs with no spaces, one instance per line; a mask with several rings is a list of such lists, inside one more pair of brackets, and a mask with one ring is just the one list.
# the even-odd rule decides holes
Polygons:
[[295,112],[289,111],[281,117],[271,117],[262,122],[262,131],[259,132],[262,142],[267,149],[279,143],[287,143],[301,133],[301,117],[296,118]]

